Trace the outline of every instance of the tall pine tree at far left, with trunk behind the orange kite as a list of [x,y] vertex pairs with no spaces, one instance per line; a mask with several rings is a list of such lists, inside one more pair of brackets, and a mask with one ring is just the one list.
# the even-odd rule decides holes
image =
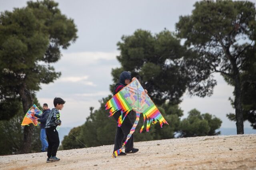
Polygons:
[[[29,1],[0,14],[0,120],[14,117],[20,101],[26,113],[40,84],[60,77],[50,63],[60,59],[60,48],[76,41],[76,32],[74,20],[52,0]],[[31,126],[24,127],[22,153],[31,151],[32,133]]]

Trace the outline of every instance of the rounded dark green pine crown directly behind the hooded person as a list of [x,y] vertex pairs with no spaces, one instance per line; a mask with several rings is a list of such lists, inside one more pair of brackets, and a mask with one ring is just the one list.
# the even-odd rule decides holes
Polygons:
[[174,34],[164,30],[153,36],[148,31],[136,30],[131,36],[122,36],[117,45],[120,50],[117,59],[122,67],[112,69],[114,82],[122,71],[130,71],[156,104],[161,105],[167,99],[172,105],[180,103],[187,74],[181,65],[184,48]]

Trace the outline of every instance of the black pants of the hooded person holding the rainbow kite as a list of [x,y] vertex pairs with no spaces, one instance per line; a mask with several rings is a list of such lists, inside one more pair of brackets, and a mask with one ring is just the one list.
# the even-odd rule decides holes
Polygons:
[[[127,115],[127,117],[124,119],[124,122],[122,123],[121,127],[116,127],[116,137],[115,137],[115,145],[114,145],[114,151],[122,148],[122,143],[126,140],[127,135],[130,133],[130,130],[133,126],[133,121],[130,119],[130,114]],[[118,119],[118,115],[115,113],[115,119]],[[129,152],[133,148],[133,142],[134,142],[134,137],[133,134],[130,137],[130,139],[127,141],[125,145],[125,152]]]

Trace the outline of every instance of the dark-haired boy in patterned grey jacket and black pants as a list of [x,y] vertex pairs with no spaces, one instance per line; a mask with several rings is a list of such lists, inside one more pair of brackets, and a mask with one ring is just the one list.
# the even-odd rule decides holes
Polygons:
[[56,127],[58,125],[61,125],[59,110],[62,110],[62,108],[64,107],[64,103],[66,102],[63,99],[61,99],[60,97],[55,97],[53,100],[54,108],[50,111],[48,119],[46,121],[45,130],[49,144],[47,150],[48,158],[46,162],[60,160],[56,157],[56,153],[60,145],[60,138]]

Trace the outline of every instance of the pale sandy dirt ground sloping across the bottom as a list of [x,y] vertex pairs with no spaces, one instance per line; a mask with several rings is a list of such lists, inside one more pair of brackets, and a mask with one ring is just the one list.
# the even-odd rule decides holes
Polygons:
[[61,150],[59,162],[46,153],[0,156],[0,169],[255,169],[256,134],[204,136],[136,142],[140,151],[111,158],[113,145]]

